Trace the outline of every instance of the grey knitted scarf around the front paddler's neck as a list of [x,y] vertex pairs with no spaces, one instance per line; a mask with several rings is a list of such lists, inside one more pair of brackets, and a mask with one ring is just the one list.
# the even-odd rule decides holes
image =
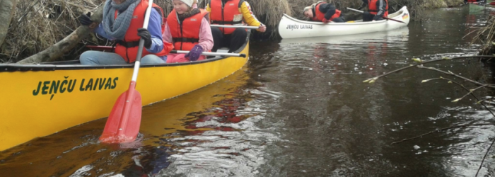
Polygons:
[[[127,28],[131,24],[134,8],[141,0],[127,0],[122,4],[115,4],[112,0],[105,1],[103,7],[103,29],[112,38],[124,40]],[[119,11],[115,18],[115,11]]]

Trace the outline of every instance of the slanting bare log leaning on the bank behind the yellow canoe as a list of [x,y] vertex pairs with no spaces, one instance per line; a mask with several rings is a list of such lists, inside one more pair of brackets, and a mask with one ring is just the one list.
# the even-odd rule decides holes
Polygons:
[[86,38],[89,35],[89,33],[91,33],[93,29],[98,26],[98,24],[102,21],[102,18],[103,18],[103,6],[100,6],[91,15],[91,21],[93,21],[93,23],[89,27],[86,25],[81,25],[66,38],[52,45],[52,47],[49,47],[46,50],[43,50],[42,52],[27,57],[17,63],[35,64],[40,62],[54,61],[55,59],[64,55],[64,53],[72,50],[72,48],[74,48],[79,41]]

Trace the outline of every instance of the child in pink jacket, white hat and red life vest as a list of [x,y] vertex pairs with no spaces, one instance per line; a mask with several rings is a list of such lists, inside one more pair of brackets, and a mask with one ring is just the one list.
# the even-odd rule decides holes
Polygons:
[[163,40],[172,42],[175,50],[190,52],[186,55],[170,54],[167,63],[205,59],[202,52],[208,52],[213,47],[207,15],[207,11],[197,8],[196,0],[173,0],[173,10],[168,14]]

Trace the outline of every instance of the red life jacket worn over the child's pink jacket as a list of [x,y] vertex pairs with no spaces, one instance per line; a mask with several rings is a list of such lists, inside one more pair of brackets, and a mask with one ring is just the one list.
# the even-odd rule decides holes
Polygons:
[[199,13],[185,18],[182,23],[179,23],[175,9],[168,14],[167,24],[175,50],[191,50],[194,45],[198,44],[201,22],[206,15],[208,15],[208,11],[199,8]]

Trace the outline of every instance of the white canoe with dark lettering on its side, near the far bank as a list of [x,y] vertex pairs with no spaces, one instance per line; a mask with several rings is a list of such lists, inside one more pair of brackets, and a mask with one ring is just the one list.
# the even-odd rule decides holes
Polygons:
[[409,24],[409,11],[404,6],[399,11],[389,14],[388,18],[397,21],[354,21],[347,23],[321,23],[314,21],[301,21],[287,14],[282,16],[279,23],[279,34],[282,38],[309,38],[319,36],[353,35],[362,33],[373,33],[385,30],[402,28]]

